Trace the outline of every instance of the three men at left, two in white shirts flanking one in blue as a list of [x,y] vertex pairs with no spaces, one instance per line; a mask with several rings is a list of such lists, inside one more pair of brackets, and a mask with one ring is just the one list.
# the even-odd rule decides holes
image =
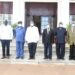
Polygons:
[[5,20],[4,24],[0,26],[0,40],[2,44],[2,59],[10,58],[10,42],[16,38],[16,59],[24,59],[24,43],[28,44],[29,59],[35,58],[37,43],[39,41],[38,28],[34,26],[31,21],[29,27],[25,28],[22,21],[17,23],[17,27],[13,29],[8,21]]

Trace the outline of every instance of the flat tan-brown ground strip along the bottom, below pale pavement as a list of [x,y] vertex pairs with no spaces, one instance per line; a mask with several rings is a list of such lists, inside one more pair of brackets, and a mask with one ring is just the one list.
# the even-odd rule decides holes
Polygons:
[[75,75],[75,65],[0,64],[0,75]]

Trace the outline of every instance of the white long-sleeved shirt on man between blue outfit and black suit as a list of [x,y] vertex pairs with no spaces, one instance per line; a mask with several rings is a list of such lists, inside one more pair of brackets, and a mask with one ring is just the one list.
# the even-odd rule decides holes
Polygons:
[[39,41],[39,31],[36,26],[29,26],[26,31],[26,41],[28,43],[37,43]]

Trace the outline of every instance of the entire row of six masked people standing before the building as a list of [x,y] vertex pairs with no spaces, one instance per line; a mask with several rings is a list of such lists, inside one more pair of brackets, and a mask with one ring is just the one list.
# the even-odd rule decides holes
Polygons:
[[[50,24],[42,33],[42,43],[44,45],[44,59],[52,59],[52,44],[56,44],[57,59],[64,59],[65,43],[68,39],[70,44],[69,59],[75,59],[75,25],[72,24],[67,30],[63,27],[63,23],[59,23],[59,27],[55,30],[51,29]],[[28,44],[29,59],[35,59],[37,43],[39,42],[39,31],[33,21],[25,28],[22,21],[19,21],[15,28],[15,33],[11,25],[6,20],[0,26],[0,40],[2,44],[2,59],[10,57],[10,42],[13,40],[13,34],[16,38],[16,59],[24,59],[24,43]]]

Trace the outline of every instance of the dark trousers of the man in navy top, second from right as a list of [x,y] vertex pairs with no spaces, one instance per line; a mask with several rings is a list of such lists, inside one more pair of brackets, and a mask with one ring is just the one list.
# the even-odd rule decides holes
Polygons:
[[56,44],[56,54],[57,54],[57,59],[64,59],[65,56],[65,43],[63,44]]

